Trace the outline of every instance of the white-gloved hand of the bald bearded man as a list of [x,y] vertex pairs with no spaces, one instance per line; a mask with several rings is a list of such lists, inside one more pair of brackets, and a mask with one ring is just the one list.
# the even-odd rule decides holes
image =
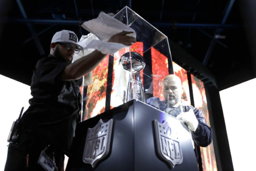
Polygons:
[[198,125],[198,121],[192,109],[188,112],[179,114],[176,118],[181,119],[184,123],[188,125],[188,129],[195,131]]

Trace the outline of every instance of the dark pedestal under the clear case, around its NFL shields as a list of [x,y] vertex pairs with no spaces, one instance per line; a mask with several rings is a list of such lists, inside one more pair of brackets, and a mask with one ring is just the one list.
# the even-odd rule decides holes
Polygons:
[[[93,128],[102,119],[113,119],[109,155],[94,168],[83,162],[83,151],[88,128]],[[172,133],[177,133],[182,153],[182,163],[172,168],[161,158],[157,149],[154,120],[167,121]],[[67,171],[196,171],[195,153],[187,127],[178,119],[153,107],[132,100],[94,118],[80,123],[71,148]]]

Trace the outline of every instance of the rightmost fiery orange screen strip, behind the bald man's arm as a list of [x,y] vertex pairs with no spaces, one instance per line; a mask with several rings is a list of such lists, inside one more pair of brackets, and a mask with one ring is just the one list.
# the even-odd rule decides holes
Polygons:
[[[206,92],[204,89],[204,83],[191,75],[192,89],[195,107],[202,110],[206,123],[211,126],[209,120],[209,113],[206,100]],[[200,147],[202,157],[202,167],[204,171],[217,171],[217,163],[214,152],[213,142],[207,147]]]

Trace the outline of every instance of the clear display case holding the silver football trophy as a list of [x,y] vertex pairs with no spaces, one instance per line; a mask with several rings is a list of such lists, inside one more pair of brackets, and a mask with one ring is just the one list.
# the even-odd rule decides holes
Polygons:
[[[124,7],[115,19],[133,28],[136,43],[108,56],[94,69],[93,82],[81,87],[82,121],[135,99],[162,94],[162,80],[173,73],[167,37]],[[161,96],[161,95],[160,95]]]

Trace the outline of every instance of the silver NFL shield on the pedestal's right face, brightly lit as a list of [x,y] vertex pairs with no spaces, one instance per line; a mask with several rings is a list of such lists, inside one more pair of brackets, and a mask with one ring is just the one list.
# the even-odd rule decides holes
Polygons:
[[183,157],[177,133],[173,132],[167,121],[161,124],[155,120],[154,127],[159,156],[172,168],[176,164],[181,164]]

